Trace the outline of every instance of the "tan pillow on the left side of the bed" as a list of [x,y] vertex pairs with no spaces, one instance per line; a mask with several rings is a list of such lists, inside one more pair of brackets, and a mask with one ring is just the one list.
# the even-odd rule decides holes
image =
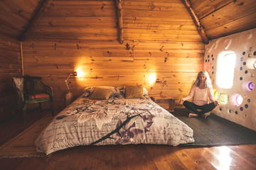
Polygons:
[[89,98],[96,99],[96,100],[107,100],[112,93],[113,91],[111,89],[95,87],[95,90],[92,92]]

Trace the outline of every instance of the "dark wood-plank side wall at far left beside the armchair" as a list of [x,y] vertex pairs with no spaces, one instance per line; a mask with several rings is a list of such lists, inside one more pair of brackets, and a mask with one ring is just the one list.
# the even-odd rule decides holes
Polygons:
[[0,120],[15,113],[12,77],[22,77],[20,42],[0,34]]

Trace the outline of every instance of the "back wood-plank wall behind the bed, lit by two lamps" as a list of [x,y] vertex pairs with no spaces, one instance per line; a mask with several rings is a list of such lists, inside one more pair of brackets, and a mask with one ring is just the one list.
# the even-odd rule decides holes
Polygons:
[[[129,50],[127,46],[129,45]],[[203,69],[203,42],[117,40],[28,40],[23,42],[24,74],[43,77],[53,87],[55,109],[64,108],[68,79],[75,98],[85,86],[144,84],[150,96],[187,96],[197,72]],[[150,77],[153,77],[150,79]],[[155,79],[165,81],[155,83]]]

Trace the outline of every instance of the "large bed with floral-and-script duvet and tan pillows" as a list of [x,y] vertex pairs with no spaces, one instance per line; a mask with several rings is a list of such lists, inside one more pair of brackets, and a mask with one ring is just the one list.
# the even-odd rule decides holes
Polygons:
[[37,151],[51,154],[80,145],[194,142],[188,125],[151,101],[142,86],[131,87],[87,87],[37,137]]

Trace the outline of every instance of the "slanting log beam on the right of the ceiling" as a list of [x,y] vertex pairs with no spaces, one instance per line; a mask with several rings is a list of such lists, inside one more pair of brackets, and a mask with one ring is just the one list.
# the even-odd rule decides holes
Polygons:
[[201,25],[198,16],[196,15],[196,11],[192,8],[191,2],[189,0],[183,0],[183,4],[185,4],[186,8],[188,8],[189,13],[191,14],[193,21],[196,24],[196,28],[198,29],[198,33],[201,35],[203,42],[206,44],[209,43],[208,36],[206,35],[206,30]]

